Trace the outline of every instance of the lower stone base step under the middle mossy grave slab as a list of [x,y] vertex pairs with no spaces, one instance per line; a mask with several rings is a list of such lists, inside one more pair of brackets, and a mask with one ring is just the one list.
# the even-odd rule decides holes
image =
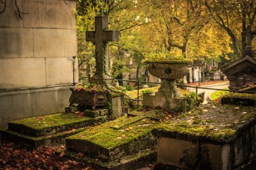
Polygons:
[[[60,154],[63,150],[59,150]],[[91,165],[94,169],[111,169],[111,170],[128,170],[128,169],[140,169],[146,167],[148,164],[156,163],[156,149],[150,148],[146,150],[140,150],[128,156],[121,157],[120,159],[115,159],[113,161],[100,161],[99,159],[81,156],[81,153],[72,151],[63,151],[65,157],[72,157],[73,159],[78,159],[79,161],[84,161],[85,163]]]

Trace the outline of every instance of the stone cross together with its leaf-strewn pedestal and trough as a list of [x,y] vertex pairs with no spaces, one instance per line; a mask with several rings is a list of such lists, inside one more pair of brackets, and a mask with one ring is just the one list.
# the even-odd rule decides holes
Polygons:
[[108,73],[108,41],[118,41],[119,31],[108,30],[108,16],[95,16],[95,31],[87,31],[86,40],[95,45],[96,72],[89,78],[89,85],[70,88],[70,106],[78,104],[86,116],[120,117],[124,94],[114,87],[114,79]]

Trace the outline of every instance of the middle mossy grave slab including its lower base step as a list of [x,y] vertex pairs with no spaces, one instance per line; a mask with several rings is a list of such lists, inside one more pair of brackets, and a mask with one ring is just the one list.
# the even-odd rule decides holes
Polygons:
[[[156,161],[152,128],[165,119],[162,110],[142,109],[66,138],[67,157],[79,158],[95,169],[137,169]],[[79,157],[81,154],[85,157]]]

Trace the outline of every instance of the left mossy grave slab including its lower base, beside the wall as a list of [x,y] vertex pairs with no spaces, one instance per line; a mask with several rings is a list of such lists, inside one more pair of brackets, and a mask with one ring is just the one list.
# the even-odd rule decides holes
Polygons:
[[57,113],[11,121],[8,130],[1,130],[1,139],[21,142],[31,147],[64,144],[64,138],[85,130],[89,125],[106,121],[79,114]]

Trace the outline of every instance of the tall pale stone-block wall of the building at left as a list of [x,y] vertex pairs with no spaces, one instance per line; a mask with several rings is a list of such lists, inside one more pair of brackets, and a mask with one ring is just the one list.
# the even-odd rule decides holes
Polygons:
[[14,0],[0,14],[0,127],[64,111],[78,81],[76,2],[16,1],[22,20]]

